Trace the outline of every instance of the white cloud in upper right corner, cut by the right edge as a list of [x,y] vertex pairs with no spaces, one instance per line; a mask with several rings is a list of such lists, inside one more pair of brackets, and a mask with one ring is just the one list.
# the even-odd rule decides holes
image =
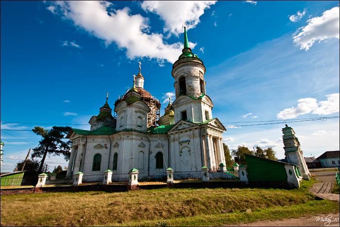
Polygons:
[[306,51],[313,46],[315,41],[321,42],[327,38],[339,38],[339,7],[334,7],[323,12],[321,17],[307,20],[305,27],[299,28],[293,35],[294,43]]

